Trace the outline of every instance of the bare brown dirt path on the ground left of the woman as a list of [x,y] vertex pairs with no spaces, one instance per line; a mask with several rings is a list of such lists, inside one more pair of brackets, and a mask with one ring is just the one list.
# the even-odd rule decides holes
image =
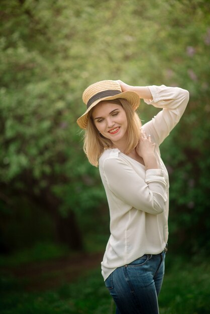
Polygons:
[[3,272],[17,278],[24,290],[48,290],[72,282],[88,270],[99,267],[102,255],[102,253],[77,253],[74,256],[23,264],[18,267],[4,267]]

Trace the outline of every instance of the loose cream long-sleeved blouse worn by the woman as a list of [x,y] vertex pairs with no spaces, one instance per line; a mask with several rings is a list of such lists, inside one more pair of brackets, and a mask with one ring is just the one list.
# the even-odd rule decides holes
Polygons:
[[110,209],[111,232],[101,262],[104,280],[117,267],[144,254],[162,252],[168,240],[169,181],[159,145],[178,123],[189,93],[178,87],[148,87],[153,100],[144,101],[163,108],[142,127],[156,143],[159,169],[145,170],[145,166],[117,148],[104,150],[99,158],[99,172]]

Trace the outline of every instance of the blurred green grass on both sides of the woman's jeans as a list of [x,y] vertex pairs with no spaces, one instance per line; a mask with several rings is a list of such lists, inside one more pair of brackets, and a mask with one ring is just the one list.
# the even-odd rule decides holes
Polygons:
[[[210,265],[167,253],[166,273],[159,296],[160,314],[209,314]],[[1,314],[113,314],[100,268],[56,289],[27,292],[24,281],[4,274],[0,291]]]

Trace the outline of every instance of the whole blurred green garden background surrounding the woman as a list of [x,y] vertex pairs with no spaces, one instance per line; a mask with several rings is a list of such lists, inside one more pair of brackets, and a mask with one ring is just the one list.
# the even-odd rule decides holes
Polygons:
[[[109,209],[76,119],[89,84],[121,79],[190,93],[160,147],[170,176],[160,311],[209,313],[209,2],[1,0],[0,17],[2,312],[114,312],[99,270]],[[156,113],[142,101],[143,123]]]

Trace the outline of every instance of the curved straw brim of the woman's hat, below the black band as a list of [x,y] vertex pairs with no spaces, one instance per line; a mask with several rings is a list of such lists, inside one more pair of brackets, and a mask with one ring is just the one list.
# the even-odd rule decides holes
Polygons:
[[77,119],[77,124],[79,125],[79,127],[86,129],[87,127],[87,115],[88,112],[94,107],[96,106],[100,101],[104,101],[104,100],[114,100],[114,99],[118,99],[118,98],[123,98],[128,100],[128,102],[130,103],[130,105],[133,107],[134,110],[136,110],[139,105],[140,105],[140,98],[139,95],[136,92],[133,91],[126,91],[126,92],[122,92],[120,94],[117,94],[115,96],[109,96],[109,97],[103,97],[103,98],[99,98],[97,100],[95,100],[90,106],[89,108],[85,111],[85,113],[83,113],[78,119]]

